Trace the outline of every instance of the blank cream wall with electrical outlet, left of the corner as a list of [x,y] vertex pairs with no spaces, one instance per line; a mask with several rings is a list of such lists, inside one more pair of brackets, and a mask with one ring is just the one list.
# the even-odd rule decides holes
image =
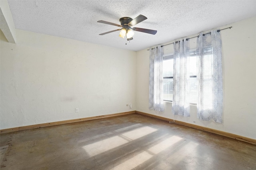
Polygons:
[[136,110],[136,52],[19,29],[16,36],[12,44],[1,33],[0,129]]

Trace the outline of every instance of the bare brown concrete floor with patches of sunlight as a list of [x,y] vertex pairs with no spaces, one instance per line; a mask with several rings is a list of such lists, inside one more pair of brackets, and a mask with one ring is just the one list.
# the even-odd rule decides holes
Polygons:
[[1,170],[256,169],[256,145],[138,114],[0,137]]

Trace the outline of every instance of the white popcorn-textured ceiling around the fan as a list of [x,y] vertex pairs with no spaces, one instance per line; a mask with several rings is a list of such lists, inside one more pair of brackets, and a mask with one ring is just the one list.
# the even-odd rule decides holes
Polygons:
[[[256,16],[256,0],[8,0],[15,27],[26,31],[139,51],[181,37]],[[120,24],[122,17],[148,19],[134,27],[154,29],[156,35],[135,31],[133,40],[98,20]]]

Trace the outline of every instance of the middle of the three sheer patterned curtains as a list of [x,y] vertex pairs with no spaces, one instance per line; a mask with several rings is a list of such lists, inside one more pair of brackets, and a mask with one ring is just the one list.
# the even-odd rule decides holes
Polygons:
[[173,101],[174,115],[190,116],[189,104],[189,39],[174,43]]

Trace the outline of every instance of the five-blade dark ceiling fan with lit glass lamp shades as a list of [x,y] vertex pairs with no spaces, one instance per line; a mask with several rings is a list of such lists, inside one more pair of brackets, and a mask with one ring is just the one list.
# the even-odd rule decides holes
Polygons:
[[145,28],[138,28],[138,27],[133,27],[131,28],[132,26],[136,25],[137,23],[140,23],[144,20],[146,20],[148,18],[146,18],[145,16],[143,15],[139,15],[137,16],[136,18],[134,18],[132,20],[132,18],[129,18],[129,17],[123,17],[123,18],[120,18],[119,21],[121,23],[121,25],[119,24],[116,24],[116,23],[112,23],[112,22],[108,22],[108,21],[97,21],[97,22],[100,22],[100,23],[106,23],[106,24],[109,24],[109,25],[115,25],[115,26],[118,26],[118,27],[122,27],[121,29],[116,29],[116,30],[113,30],[113,31],[108,31],[106,33],[101,33],[99,35],[105,35],[105,34],[108,34],[108,33],[112,33],[112,32],[115,32],[115,31],[120,31],[120,34],[119,36],[124,38],[126,36],[126,39],[128,41],[132,40],[132,36],[134,35],[134,32],[133,31],[140,31],[140,32],[143,32],[143,33],[149,33],[149,34],[153,34],[155,35],[156,34],[156,30],[152,30],[152,29],[145,29]]

